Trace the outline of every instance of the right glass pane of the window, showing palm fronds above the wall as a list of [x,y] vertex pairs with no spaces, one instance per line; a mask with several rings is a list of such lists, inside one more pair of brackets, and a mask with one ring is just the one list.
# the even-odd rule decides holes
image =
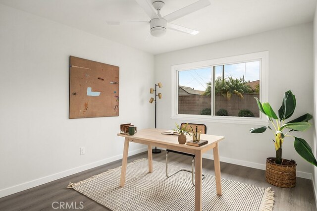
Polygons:
[[214,115],[260,117],[260,61],[214,68]]

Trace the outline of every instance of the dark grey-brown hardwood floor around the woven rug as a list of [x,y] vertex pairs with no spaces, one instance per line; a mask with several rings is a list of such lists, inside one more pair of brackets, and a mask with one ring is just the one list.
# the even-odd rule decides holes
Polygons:
[[[147,158],[147,152],[128,158],[131,162],[138,158]],[[165,162],[165,151],[153,154],[153,160]],[[179,154],[169,154],[172,165],[191,168],[191,158]],[[51,210],[94,210],[107,211],[105,207],[81,195],[73,189],[67,189],[69,182],[79,182],[93,175],[105,172],[121,165],[117,160],[106,165],[89,169],[53,182],[31,188],[10,196],[0,198],[0,211],[51,211]],[[274,211],[317,211],[312,181],[297,178],[296,187],[278,188],[265,182],[264,170],[220,162],[221,177],[260,187],[271,187],[275,191]],[[203,158],[203,172],[214,174],[213,160]],[[119,181],[118,181],[119,182]],[[54,203],[55,202],[55,203]],[[54,203],[54,204],[53,204]],[[66,208],[66,203],[73,209]],[[53,207],[52,207],[53,204]],[[63,205],[63,206],[61,206]],[[69,207],[68,207],[69,208]],[[77,209],[76,209],[77,208]]]

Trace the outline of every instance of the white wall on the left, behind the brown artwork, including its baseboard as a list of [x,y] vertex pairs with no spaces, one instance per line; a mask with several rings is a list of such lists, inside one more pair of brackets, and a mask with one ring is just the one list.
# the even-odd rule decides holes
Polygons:
[[[120,67],[118,117],[68,119],[69,55]],[[154,127],[152,54],[2,4],[0,73],[0,197],[122,158],[119,124]]]

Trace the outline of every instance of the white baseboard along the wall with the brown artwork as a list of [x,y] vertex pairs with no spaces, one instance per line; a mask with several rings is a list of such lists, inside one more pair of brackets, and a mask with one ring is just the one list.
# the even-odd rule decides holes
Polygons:
[[[141,148],[141,149],[138,149],[138,150],[134,150],[134,151],[129,152],[128,156],[133,156],[133,155],[145,152],[147,150],[148,150],[147,147]],[[91,169],[91,168],[95,168],[97,166],[104,165],[106,163],[109,163],[109,162],[112,162],[112,161],[115,161],[115,160],[118,160],[118,159],[121,159],[121,158],[122,158],[122,154],[121,155],[117,155],[117,156],[113,156],[111,158],[102,159],[102,160],[99,160],[99,161],[96,161],[96,162],[88,163],[86,165],[78,166],[78,167],[75,167],[75,168],[72,168],[72,169],[69,169],[69,170],[66,170],[66,171],[58,172],[58,173],[55,173],[55,174],[52,174],[52,175],[49,175],[49,176],[38,178],[38,179],[35,179],[35,180],[32,180],[32,181],[28,181],[28,182],[25,182],[25,183],[22,183],[22,184],[18,184],[18,185],[12,186],[12,187],[4,188],[4,189],[0,190],[0,198],[8,196],[8,195],[11,195],[11,194],[14,194],[14,193],[17,193],[17,192],[20,192],[20,191],[27,190],[29,188],[33,188],[33,187],[36,187],[36,186],[39,186],[39,185],[43,185],[43,184],[48,183],[48,182],[52,182],[52,181],[54,181],[56,179],[60,179],[60,178],[63,178],[63,177],[66,177],[66,176],[69,176],[69,175],[72,175],[72,174],[75,174],[75,173],[79,173],[81,171],[85,171],[85,170],[88,170],[88,169]]]

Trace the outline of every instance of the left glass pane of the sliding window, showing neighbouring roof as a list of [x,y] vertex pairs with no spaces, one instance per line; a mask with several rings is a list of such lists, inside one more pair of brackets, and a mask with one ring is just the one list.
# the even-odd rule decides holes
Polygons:
[[211,115],[211,95],[206,95],[211,72],[211,67],[178,71],[178,114]]

